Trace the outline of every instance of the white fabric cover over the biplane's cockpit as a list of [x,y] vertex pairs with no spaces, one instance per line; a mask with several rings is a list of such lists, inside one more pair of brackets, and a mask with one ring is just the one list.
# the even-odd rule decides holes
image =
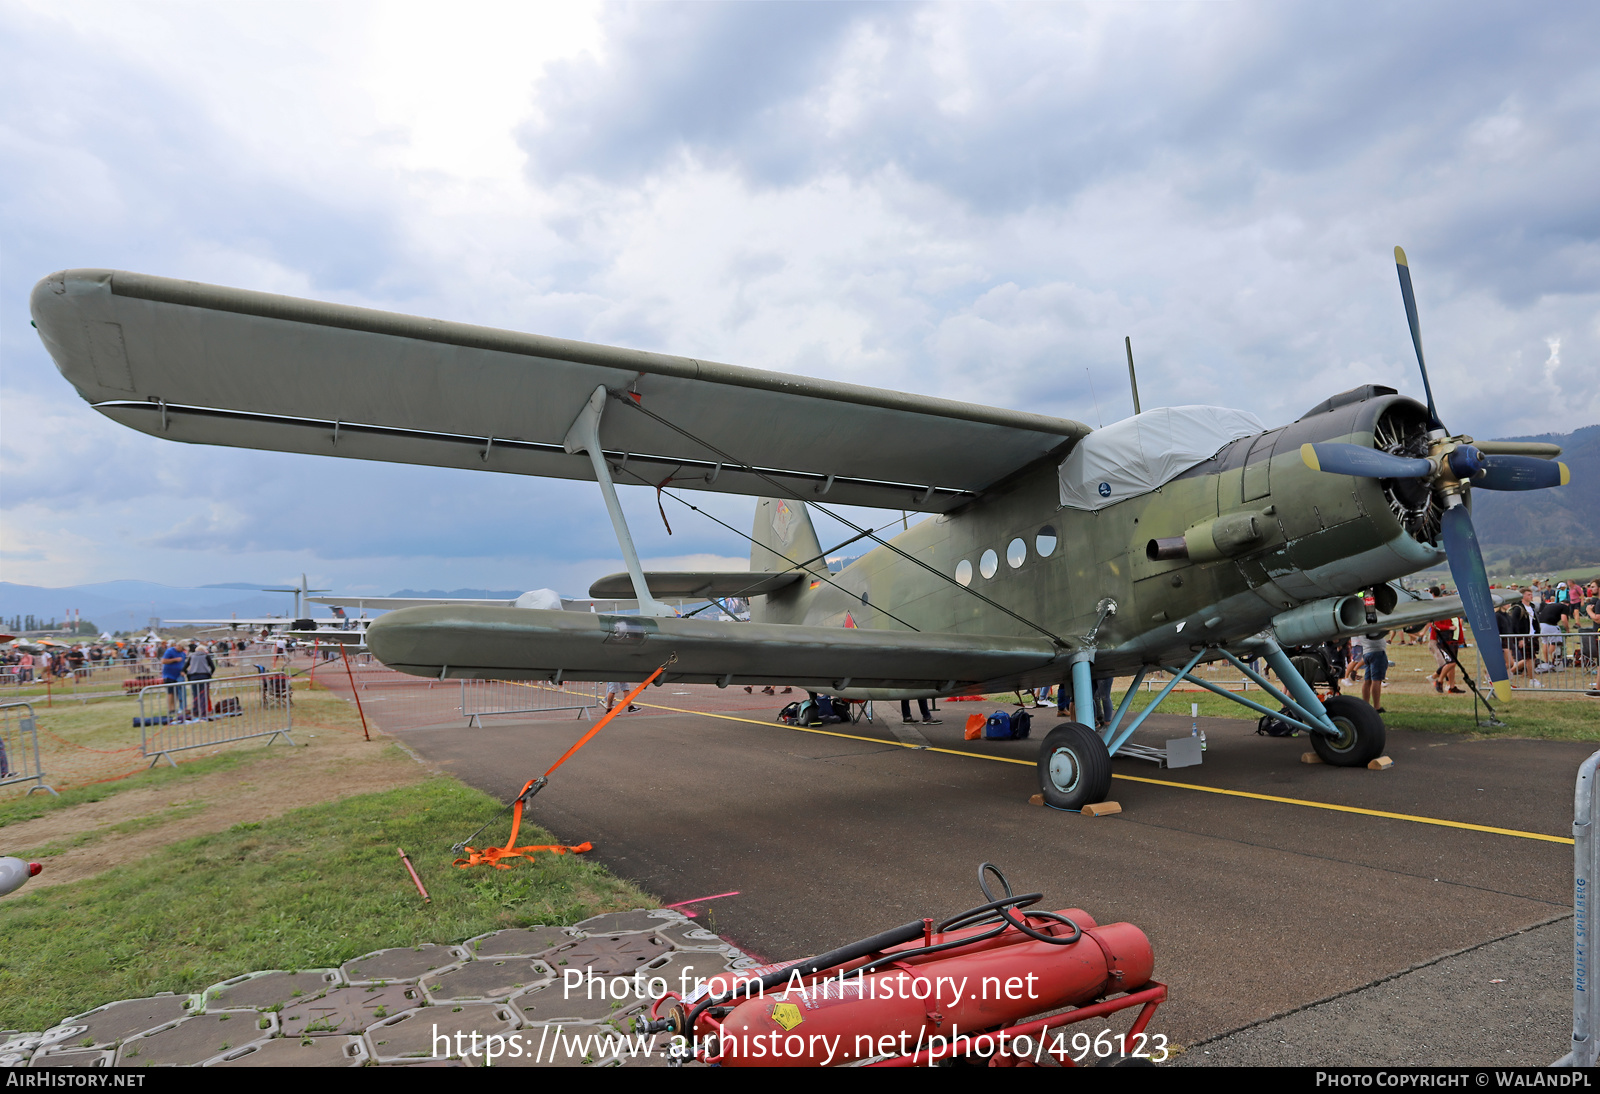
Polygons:
[[1061,504],[1093,510],[1149,494],[1266,429],[1254,414],[1226,406],[1162,406],[1125,417],[1080,440],[1061,462]]

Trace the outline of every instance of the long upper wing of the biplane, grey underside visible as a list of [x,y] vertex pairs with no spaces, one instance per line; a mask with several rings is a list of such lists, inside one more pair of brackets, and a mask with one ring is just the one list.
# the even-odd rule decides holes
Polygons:
[[[621,481],[947,512],[1088,425],[1042,414],[118,270],[34,288],[96,409],[168,440],[555,478],[597,387]],[[632,397],[632,398],[629,398]]]

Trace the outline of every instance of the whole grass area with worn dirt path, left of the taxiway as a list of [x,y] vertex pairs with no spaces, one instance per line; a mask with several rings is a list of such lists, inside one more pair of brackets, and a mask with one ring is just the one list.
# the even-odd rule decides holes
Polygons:
[[[366,742],[338,696],[298,691],[294,702],[298,747],[221,745],[61,798],[0,800],[0,854],[45,864],[0,900],[0,1028],[38,1030],[114,1000],[198,992],[256,969],[334,966],[382,947],[654,905],[581,856],[456,868],[450,844],[501,803],[430,776],[384,737]],[[136,731],[125,707],[42,710],[40,726],[67,742],[62,753],[126,747]],[[475,846],[507,832],[502,817]],[[518,836],[555,841],[531,825]]]

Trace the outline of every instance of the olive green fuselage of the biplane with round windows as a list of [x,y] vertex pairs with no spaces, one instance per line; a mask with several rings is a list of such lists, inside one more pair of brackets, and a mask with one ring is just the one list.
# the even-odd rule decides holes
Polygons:
[[[1158,489],[1096,512],[1061,505],[1056,464],[1048,462],[960,512],[928,518],[890,541],[938,573],[877,547],[834,574],[832,582],[798,582],[755,598],[752,617],[819,627],[1053,637],[1069,649],[1094,646],[1096,677],[1238,641],[1290,608],[1355,593],[1443,558],[1437,545],[1405,531],[1379,481],[1312,470],[1301,459],[1306,441],[1371,446],[1378,417],[1397,403],[1421,411],[1395,395],[1334,406],[1237,440]],[[1229,513],[1259,518],[1259,539],[1246,550],[1211,561],[1149,557],[1152,539],[1179,537]],[[821,566],[813,565],[813,571],[821,574]],[[968,568],[970,584],[963,587],[960,577]],[[1098,605],[1107,598],[1115,601],[1115,613],[1093,641],[1085,641],[1099,616]],[[1061,678],[1062,665],[1056,664],[1022,683]]]

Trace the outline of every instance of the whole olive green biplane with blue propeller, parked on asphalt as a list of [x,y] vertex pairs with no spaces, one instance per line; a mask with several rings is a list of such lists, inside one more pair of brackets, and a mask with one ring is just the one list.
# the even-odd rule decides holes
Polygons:
[[[1210,406],[1102,430],[629,349],[518,334],[115,270],[32,294],[61,373],[98,411],[155,437],[355,459],[595,480],[637,616],[496,606],[392,611],[373,653],[427,677],[784,683],[861,697],[950,696],[1226,659],[1283,702],[1330,763],[1365,765],[1384,725],[1318,701],[1282,645],[1464,611],[1498,649],[1472,486],[1565,483],[1554,445],[1450,433],[1427,403],[1365,385],[1264,429]],[[752,494],[750,573],[646,574],[613,480]],[[806,505],[933,513],[830,574]],[[843,520],[843,518],[840,518]],[[846,525],[850,521],[845,521]],[[830,552],[829,552],[830,553]],[[1395,609],[1392,579],[1448,557],[1464,603]],[[1382,614],[1363,605],[1373,590]],[[656,598],[749,597],[752,622],[672,617]],[[1286,688],[1245,659],[1266,657]],[[1496,694],[1506,665],[1488,659]],[[1168,689],[1173,686],[1168,685]],[[1214,688],[1213,688],[1214,689]],[[1104,798],[1144,715],[1130,688],[1104,736],[1059,725],[1038,758],[1048,801]],[[1166,691],[1152,704],[1154,709]],[[1230,699],[1269,710],[1234,693]]]

